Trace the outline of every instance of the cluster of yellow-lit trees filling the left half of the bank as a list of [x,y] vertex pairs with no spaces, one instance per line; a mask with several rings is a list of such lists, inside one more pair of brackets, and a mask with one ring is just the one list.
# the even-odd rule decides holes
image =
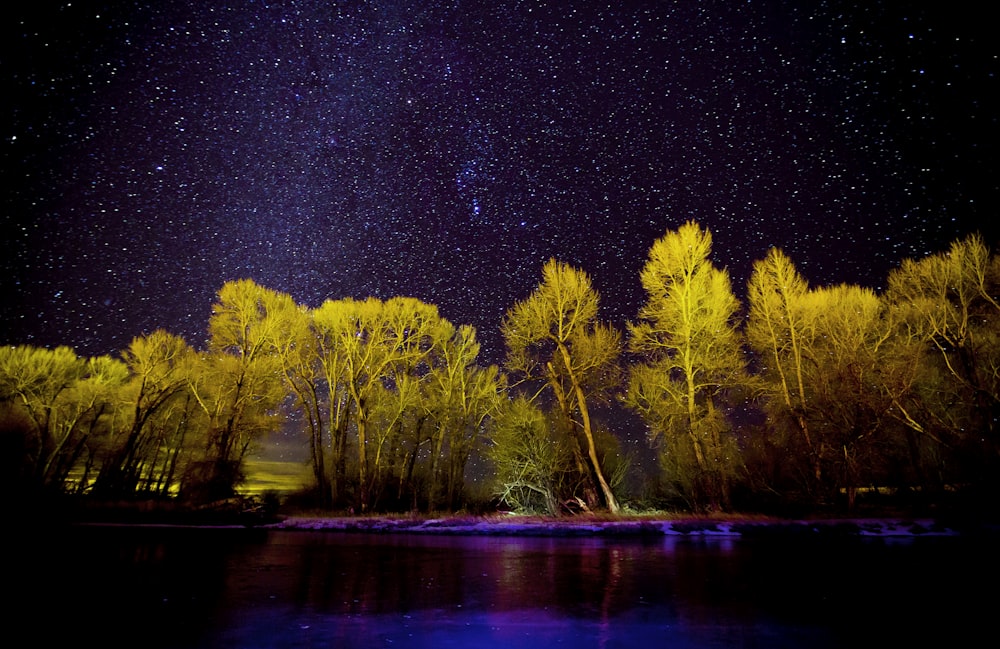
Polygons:
[[[22,483],[104,498],[229,497],[255,442],[303,422],[318,504],[454,507],[498,404],[472,327],[412,298],[317,309],[228,282],[208,349],[164,331],[122,360],[0,350],[6,445]],[[14,434],[11,433],[14,432]]]

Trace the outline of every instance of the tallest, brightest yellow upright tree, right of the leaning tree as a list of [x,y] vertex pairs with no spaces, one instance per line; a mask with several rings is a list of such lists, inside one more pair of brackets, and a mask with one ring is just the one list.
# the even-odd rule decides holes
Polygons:
[[729,274],[709,260],[712,236],[688,222],[649,251],[647,300],[629,325],[632,369],[626,403],[661,442],[671,478],[696,507],[729,506],[740,458],[717,400],[749,384]]

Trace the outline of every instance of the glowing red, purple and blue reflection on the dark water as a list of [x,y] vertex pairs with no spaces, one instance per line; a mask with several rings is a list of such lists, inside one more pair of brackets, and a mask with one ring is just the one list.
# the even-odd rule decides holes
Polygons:
[[[229,572],[243,576],[230,579],[227,600],[240,602],[241,618],[222,640],[243,647],[279,640],[292,643],[281,646],[694,647],[734,640],[741,646],[742,623],[706,610],[701,567],[718,563],[678,570],[664,560],[676,556],[675,545],[278,533],[234,556],[239,568]],[[704,549],[706,559],[720,551]],[[691,553],[699,554],[686,547],[684,554]],[[247,572],[269,578],[247,581]],[[275,602],[286,605],[276,609]]]

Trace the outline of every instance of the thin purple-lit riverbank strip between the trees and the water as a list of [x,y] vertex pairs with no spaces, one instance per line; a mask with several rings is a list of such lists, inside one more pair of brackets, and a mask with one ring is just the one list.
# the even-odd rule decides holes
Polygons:
[[[610,515],[581,513],[547,517],[497,512],[485,515],[426,514],[348,515],[322,511],[275,511],[226,501],[191,508],[174,501],[96,503],[58,500],[10,510],[29,527],[59,524],[252,527],[288,531],[379,534],[450,534],[492,536],[624,537],[702,536],[767,537],[917,537],[990,535],[1000,537],[996,518],[907,516],[870,512],[855,517],[808,516],[801,519],[756,514],[685,515],[644,512]],[[43,506],[45,505],[45,506]]]

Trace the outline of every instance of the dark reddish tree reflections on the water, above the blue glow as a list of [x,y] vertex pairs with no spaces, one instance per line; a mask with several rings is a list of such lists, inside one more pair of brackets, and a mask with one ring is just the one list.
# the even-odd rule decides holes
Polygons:
[[[289,544],[274,541],[286,534]],[[228,590],[343,615],[538,610],[610,622],[638,607],[702,624],[748,599],[732,543],[278,533],[230,561],[241,565]]]

